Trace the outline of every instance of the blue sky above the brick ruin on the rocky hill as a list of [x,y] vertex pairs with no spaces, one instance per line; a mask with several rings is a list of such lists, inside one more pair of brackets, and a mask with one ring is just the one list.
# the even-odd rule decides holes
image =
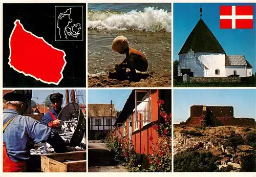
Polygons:
[[174,123],[186,121],[190,106],[233,106],[235,118],[256,119],[255,89],[182,89],[174,90]]

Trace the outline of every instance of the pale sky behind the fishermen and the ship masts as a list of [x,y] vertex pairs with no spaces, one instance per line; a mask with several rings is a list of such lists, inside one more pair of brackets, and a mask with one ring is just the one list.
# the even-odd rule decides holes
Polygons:
[[[78,95],[79,103],[86,104],[86,90],[75,90],[75,91],[78,91],[77,95]],[[36,103],[42,103],[46,100],[46,97],[48,95],[56,92],[63,94],[63,105],[66,105],[66,90],[32,90],[31,100],[34,100]],[[69,97],[71,101],[71,93],[69,94]]]

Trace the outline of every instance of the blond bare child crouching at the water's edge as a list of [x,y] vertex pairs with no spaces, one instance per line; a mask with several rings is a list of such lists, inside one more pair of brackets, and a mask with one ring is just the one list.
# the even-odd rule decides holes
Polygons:
[[130,48],[127,38],[124,36],[116,37],[112,42],[112,50],[119,54],[125,54],[126,57],[120,64],[116,64],[115,70],[119,73],[121,70],[129,68],[132,76],[136,75],[136,70],[145,72],[147,70],[146,57],[138,50]]

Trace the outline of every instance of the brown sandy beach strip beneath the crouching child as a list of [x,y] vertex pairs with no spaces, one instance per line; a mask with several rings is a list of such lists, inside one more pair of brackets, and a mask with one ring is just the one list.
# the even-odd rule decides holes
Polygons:
[[171,75],[168,71],[138,72],[136,78],[131,78],[129,70],[120,77],[114,69],[100,75],[89,75],[89,87],[170,87]]

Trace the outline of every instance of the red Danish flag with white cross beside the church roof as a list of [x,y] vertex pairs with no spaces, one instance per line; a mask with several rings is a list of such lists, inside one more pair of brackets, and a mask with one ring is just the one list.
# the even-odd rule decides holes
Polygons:
[[252,29],[252,6],[220,6],[221,29]]

